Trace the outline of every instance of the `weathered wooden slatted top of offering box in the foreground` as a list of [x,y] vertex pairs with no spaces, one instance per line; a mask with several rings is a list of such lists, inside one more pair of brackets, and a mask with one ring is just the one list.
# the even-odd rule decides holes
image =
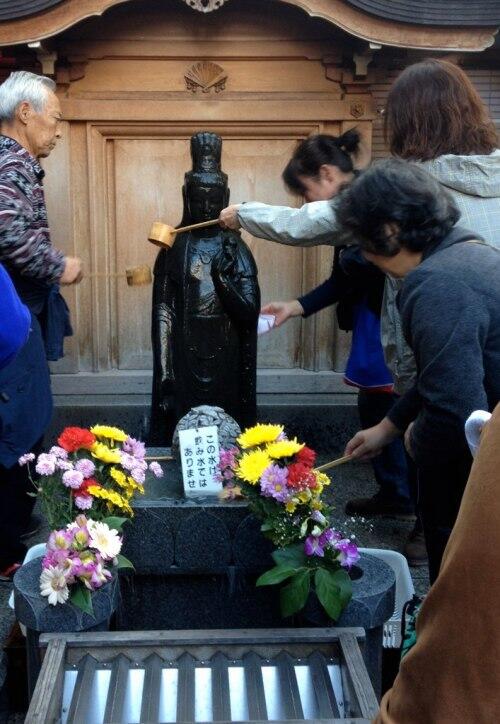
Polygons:
[[[267,721],[262,665],[271,661],[278,667],[282,705],[287,721],[305,721],[301,695],[297,688],[294,662],[307,661],[316,692],[321,718],[331,724],[346,721],[336,718],[337,708],[325,657],[340,665],[345,714],[352,724],[368,724],[377,714],[375,697],[360,645],[363,629],[281,629],[208,630],[208,631],[121,631],[77,634],[45,634],[40,645],[46,647],[42,669],[27,713],[27,724],[57,721],[62,705],[65,669],[77,667],[68,722],[85,718],[94,674],[99,667],[111,668],[107,690],[105,722],[121,721],[124,715],[125,687],[132,667],[144,668],[141,721],[157,721],[162,668],[178,669],[177,721],[194,721],[194,666],[212,670],[214,721],[231,721],[227,666],[236,660],[244,668],[249,722]],[[285,680],[283,680],[285,677]],[[181,683],[182,681],[182,683]],[[295,719],[294,714],[297,716]],[[280,720],[272,720],[279,724]]]

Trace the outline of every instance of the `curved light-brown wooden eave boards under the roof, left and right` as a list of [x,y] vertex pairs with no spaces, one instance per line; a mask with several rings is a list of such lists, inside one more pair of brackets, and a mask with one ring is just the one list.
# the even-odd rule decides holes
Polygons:
[[[64,0],[35,15],[0,24],[0,46],[19,45],[50,38],[85,18],[102,15],[128,0]],[[418,50],[475,52],[493,44],[497,27],[412,25],[368,15],[343,0],[278,0],[301,8],[349,35],[377,45]]]

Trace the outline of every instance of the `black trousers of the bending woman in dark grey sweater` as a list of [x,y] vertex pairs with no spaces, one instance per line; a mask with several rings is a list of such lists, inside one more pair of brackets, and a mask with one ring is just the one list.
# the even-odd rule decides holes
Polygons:
[[431,585],[438,576],[471,465],[472,457],[464,452],[448,465],[418,468],[417,508],[424,529]]

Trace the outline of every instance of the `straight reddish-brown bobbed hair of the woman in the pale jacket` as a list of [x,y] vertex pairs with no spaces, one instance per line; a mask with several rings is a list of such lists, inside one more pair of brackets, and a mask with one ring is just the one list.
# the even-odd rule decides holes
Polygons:
[[423,60],[402,71],[387,97],[384,130],[392,155],[414,161],[489,154],[498,144],[479,93],[447,60]]

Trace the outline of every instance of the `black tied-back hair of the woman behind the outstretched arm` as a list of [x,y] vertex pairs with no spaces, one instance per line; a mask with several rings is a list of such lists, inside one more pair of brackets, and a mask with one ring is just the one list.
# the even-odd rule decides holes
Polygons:
[[303,194],[301,176],[317,178],[321,166],[337,166],[344,173],[354,170],[351,154],[356,153],[361,140],[359,131],[352,128],[341,136],[318,133],[300,143],[282,173],[285,185],[292,193]]

